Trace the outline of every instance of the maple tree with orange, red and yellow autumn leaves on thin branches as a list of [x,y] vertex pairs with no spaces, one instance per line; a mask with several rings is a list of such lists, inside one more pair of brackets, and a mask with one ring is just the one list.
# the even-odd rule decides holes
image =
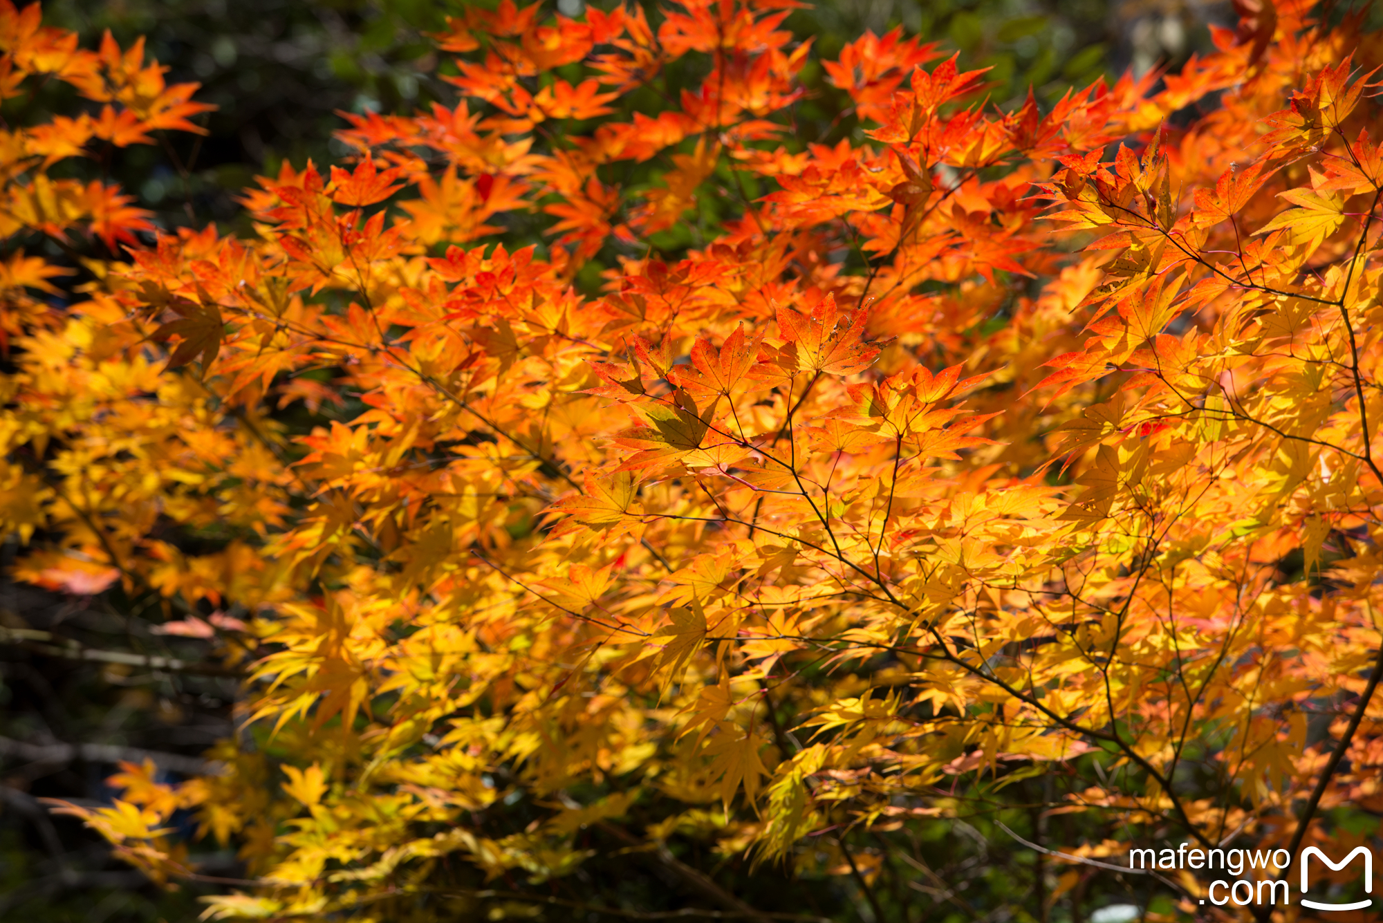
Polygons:
[[235,238],[57,178],[199,104],[0,3],[3,93],[91,102],[0,148],[14,573],[246,680],[217,772],[57,810],[169,883],[191,811],[212,919],[1228,917],[1122,857],[1375,836],[1364,14],[1245,3],[1046,111],[864,35],[824,145],[791,0],[503,0],[436,36],[455,106],[350,116]]

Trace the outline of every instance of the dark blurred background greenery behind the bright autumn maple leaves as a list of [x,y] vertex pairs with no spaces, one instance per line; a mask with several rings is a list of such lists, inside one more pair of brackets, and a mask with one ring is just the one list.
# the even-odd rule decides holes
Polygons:
[[[494,0],[483,0],[494,3]],[[597,0],[609,7],[614,0]],[[644,0],[656,19],[654,0]],[[544,0],[578,15],[584,0]],[[207,134],[167,135],[131,146],[111,174],[154,209],[163,228],[238,227],[235,199],[256,174],[288,159],[331,162],[344,153],[332,131],[339,112],[408,112],[433,99],[454,104],[438,79],[452,66],[429,32],[461,8],[455,0],[50,0],[46,19],[73,29],[89,47],[109,29],[122,46],[147,36],[147,54],[171,82],[203,84],[216,112]],[[989,66],[992,101],[1005,108],[1033,87],[1051,102],[1069,87],[1126,69],[1177,66],[1209,47],[1207,23],[1229,25],[1228,3],[1202,0],[824,0],[788,25],[834,57],[866,29],[903,26],[961,53],[965,68]],[[841,95],[809,65],[809,105],[797,113],[805,137],[834,141],[859,126],[835,117]],[[39,108],[62,106],[46,88]],[[22,115],[22,113],[21,113]],[[6,117],[15,113],[6,109]],[[32,113],[30,113],[32,116]],[[0,546],[0,565],[17,547]],[[57,631],[82,644],[136,655],[202,660],[209,643],[158,634],[158,598],[59,597],[0,583],[0,629]],[[235,681],[167,674],[120,663],[86,663],[43,644],[0,637],[0,919],[32,923],[195,920],[198,893],[225,884],[160,891],[109,858],[104,841],[36,800],[108,801],[105,778],[119,760],[154,759],[170,778],[195,772],[202,754],[234,732]],[[191,832],[191,821],[187,822]],[[214,847],[202,847],[214,850]],[[231,853],[194,854],[203,872],[234,879]]]

